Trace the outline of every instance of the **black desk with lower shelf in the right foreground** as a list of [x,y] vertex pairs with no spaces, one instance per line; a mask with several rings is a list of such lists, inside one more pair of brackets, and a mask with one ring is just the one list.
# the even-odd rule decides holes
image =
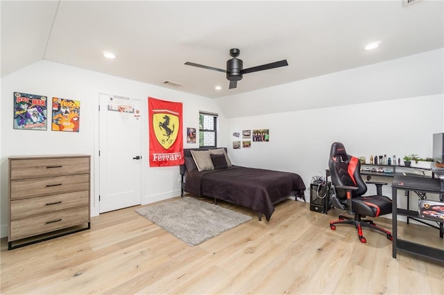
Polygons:
[[[396,251],[406,251],[419,256],[425,256],[434,260],[444,261],[444,249],[437,249],[428,247],[422,244],[409,242],[407,240],[398,239],[397,227],[398,227],[398,215],[404,215],[407,217],[415,217],[420,219],[418,211],[411,211],[398,208],[398,190],[413,190],[423,193],[436,193],[439,195],[439,199],[443,202],[444,199],[444,179],[434,179],[426,177],[412,177],[412,176],[400,176],[396,175],[392,182],[392,200],[393,200],[393,258],[396,258]],[[443,222],[439,226],[440,237],[443,238]]]

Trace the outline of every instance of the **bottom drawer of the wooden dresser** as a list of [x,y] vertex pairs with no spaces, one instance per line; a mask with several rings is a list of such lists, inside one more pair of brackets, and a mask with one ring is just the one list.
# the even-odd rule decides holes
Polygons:
[[89,222],[89,208],[75,208],[12,220],[8,240],[19,240]]

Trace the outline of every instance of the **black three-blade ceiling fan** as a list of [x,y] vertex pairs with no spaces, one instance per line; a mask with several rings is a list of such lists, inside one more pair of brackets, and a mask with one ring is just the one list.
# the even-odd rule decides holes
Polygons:
[[242,79],[242,75],[245,73],[253,73],[257,71],[264,71],[269,69],[279,68],[280,66],[288,66],[287,60],[280,60],[279,62],[271,62],[270,64],[262,64],[262,66],[253,66],[252,68],[242,69],[244,62],[237,58],[241,51],[237,48],[230,49],[230,55],[233,57],[231,60],[227,60],[227,69],[218,69],[212,66],[204,66],[203,64],[195,64],[194,62],[185,62],[188,66],[197,66],[198,68],[209,69],[213,71],[219,71],[227,74],[227,79],[230,81],[229,89],[237,87],[237,81]]

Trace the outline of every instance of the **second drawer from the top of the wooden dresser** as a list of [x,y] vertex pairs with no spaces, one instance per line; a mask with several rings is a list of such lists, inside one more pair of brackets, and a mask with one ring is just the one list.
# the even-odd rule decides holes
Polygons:
[[11,199],[42,197],[79,190],[89,190],[89,174],[12,180],[10,182]]

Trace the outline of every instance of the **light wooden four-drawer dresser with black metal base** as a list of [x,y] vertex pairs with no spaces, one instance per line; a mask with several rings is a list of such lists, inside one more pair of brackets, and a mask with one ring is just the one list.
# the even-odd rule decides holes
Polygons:
[[9,250],[90,229],[90,156],[8,159]]

